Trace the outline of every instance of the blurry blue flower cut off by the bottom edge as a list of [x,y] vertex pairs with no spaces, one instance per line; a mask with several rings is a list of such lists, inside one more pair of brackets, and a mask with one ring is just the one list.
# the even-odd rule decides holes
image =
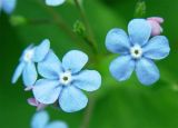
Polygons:
[[49,122],[49,115],[39,111],[32,117],[31,128],[68,128],[68,126],[63,121]]

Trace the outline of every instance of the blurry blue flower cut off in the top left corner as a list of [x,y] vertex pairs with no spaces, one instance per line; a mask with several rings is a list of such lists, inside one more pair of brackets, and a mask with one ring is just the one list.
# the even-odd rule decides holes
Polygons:
[[16,7],[16,0],[0,0],[0,11],[3,10],[7,13],[11,13]]

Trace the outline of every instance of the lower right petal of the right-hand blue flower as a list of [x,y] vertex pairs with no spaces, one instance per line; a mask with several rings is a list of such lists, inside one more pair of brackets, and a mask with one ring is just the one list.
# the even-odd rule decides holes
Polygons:
[[149,86],[159,79],[157,66],[149,59],[140,59],[136,65],[136,73],[142,85]]

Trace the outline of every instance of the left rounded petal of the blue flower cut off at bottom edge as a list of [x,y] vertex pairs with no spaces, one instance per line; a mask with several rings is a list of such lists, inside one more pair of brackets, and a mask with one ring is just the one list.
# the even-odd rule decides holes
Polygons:
[[44,128],[49,121],[49,116],[46,111],[37,112],[32,117],[31,128]]

